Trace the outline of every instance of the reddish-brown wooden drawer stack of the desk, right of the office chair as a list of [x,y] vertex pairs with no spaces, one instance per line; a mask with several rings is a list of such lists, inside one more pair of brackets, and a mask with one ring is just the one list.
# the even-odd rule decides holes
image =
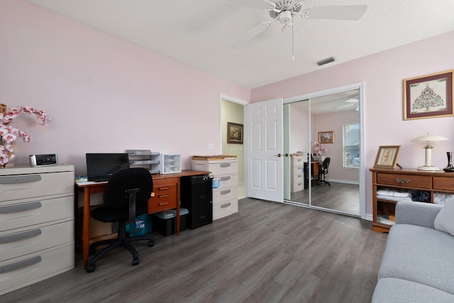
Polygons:
[[155,197],[148,200],[148,214],[177,207],[177,178],[153,180]]

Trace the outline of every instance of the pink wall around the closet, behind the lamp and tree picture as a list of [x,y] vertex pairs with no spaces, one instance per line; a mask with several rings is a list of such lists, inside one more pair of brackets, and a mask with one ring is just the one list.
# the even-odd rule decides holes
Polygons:
[[365,82],[366,213],[372,214],[372,178],[380,145],[402,145],[399,163],[418,167],[424,163],[421,143],[411,139],[437,133],[450,141],[433,143],[432,164],[445,167],[446,151],[454,150],[454,117],[403,120],[403,80],[454,68],[454,31],[362,57],[317,72],[276,82],[252,91],[252,101],[294,97],[323,89]]

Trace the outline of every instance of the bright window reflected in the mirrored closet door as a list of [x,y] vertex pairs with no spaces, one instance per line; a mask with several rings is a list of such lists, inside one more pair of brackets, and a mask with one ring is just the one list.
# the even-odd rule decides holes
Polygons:
[[343,168],[360,167],[360,124],[343,125]]

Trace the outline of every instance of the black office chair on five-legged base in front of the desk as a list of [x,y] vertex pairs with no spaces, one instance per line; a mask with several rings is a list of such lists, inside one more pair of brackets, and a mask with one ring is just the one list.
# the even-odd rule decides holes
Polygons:
[[112,175],[104,190],[104,206],[93,209],[92,217],[102,222],[118,222],[118,237],[92,243],[90,253],[94,253],[96,246],[109,246],[89,259],[87,272],[94,272],[96,260],[114,248],[123,246],[128,249],[133,255],[133,265],[138,265],[139,254],[131,242],[148,240],[148,246],[155,245],[155,239],[151,235],[129,238],[126,234],[126,224],[147,213],[152,191],[153,179],[145,168],[128,168]]

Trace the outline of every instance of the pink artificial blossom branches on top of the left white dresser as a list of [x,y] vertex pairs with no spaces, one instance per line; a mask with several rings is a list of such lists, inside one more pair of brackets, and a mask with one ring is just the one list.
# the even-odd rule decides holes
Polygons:
[[[3,104],[2,104],[3,105]],[[35,114],[38,123],[42,126],[47,126],[51,119],[47,117],[42,109],[33,109],[30,106],[17,106],[6,111],[0,112],[0,165],[6,165],[9,162],[9,157],[13,153],[13,143],[17,137],[21,137],[23,142],[30,142],[32,138],[25,131],[19,131],[18,128],[11,126],[13,119],[19,114]]]

